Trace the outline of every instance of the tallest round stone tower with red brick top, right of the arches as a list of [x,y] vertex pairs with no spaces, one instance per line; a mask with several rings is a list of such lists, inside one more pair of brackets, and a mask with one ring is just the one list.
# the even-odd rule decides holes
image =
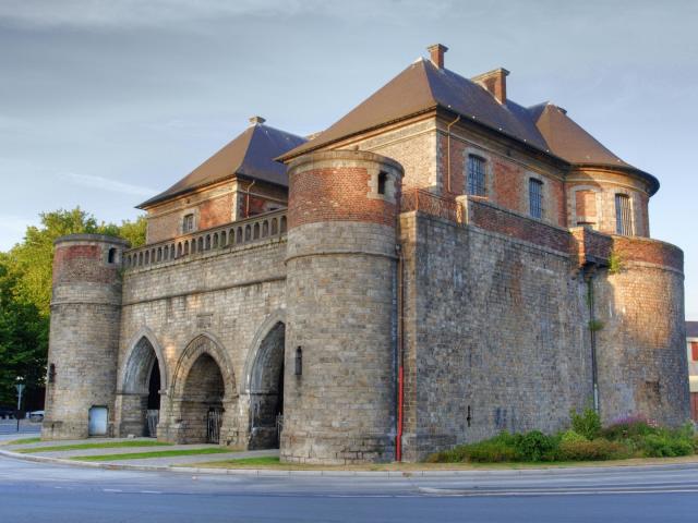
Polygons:
[[392,461],[402,168],[357,150],[289,172],[281,460]]

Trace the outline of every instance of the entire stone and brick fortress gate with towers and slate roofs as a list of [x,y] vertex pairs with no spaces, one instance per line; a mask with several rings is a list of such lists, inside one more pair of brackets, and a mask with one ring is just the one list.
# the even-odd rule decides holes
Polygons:
[[506,429],[688,418],[683,253],[657,179],[444,46],[311,139],[254,117],[140,205],[147,242],[56,242],[43,437],[416,461]]

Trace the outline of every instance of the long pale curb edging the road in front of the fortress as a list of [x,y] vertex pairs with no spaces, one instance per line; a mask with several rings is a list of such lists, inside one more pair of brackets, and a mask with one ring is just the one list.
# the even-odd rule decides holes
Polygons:
[[61,458],[48,458],[44,455],[21,454],[9,450],[0,450],[0,455],[21,461],[35,463],[53,463],[87,469],[103,469],[107,471],[137,471],[137,472],[173,472],[177,474],[206,474],[218,476],[339,476],[339,477],[434,477],[434,476],[469,476],[469,475],[529,475],[545,472],[551,475],[562,474],[593,474],[599,471],[645,472],[648,469],[655,471],[681,471],[698,467],[698,460],[688,463],[647,464],[647,465],[609,465],[609,466],[569,466],[557,469],[504,469],[504,470],[443,470],[443,471],[277,471],[273,469],[205,469],[194,466],[172,465],[134,465],[119,463],[93,463],[87,461],[64,460]]

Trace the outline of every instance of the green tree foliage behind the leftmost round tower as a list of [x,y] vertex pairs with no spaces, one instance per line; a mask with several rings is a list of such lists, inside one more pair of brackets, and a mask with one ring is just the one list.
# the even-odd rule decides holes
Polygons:
[[16,377],[29,388],[43,385],[48,352],[53,241],[65,234],[96,233],[145,243],[144,217],[120,226],[97,222],[79,207],[44,212],[27,227],[24,241],[0,253],[0,403],[12,404]]

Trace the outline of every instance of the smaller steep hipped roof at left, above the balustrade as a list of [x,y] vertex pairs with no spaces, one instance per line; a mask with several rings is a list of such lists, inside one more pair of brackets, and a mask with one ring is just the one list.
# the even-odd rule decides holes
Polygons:
[[[261,120],[261,119],[260,119]],[[260,120],[255,120],[260,122]],[[191,190],[242,175],[277,185],[288,185],[286,167],[274,161],[279,155],[303,144],[305,138],[286,131],[254,123],[167,191],[139,205],[153,204]]]

